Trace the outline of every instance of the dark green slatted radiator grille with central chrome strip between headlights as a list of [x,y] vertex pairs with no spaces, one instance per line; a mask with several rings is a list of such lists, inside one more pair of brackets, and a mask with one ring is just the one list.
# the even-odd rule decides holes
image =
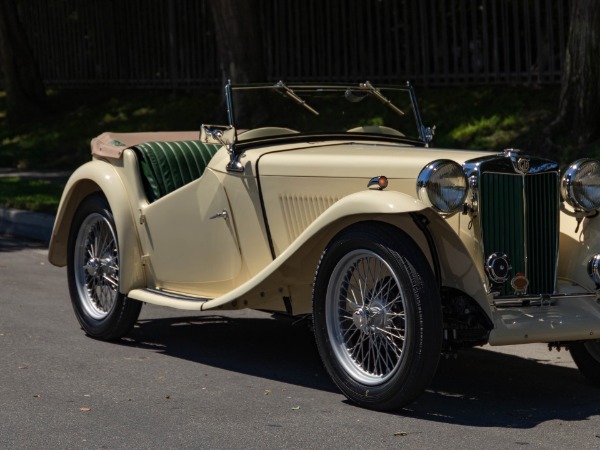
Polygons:
[[[480,214],[484,257],[506,253],[511,276],[524,274],[527,294],[551,294],[558,258],[558,174],[483,173]],[[510,295],[510,281],[501,288]]]

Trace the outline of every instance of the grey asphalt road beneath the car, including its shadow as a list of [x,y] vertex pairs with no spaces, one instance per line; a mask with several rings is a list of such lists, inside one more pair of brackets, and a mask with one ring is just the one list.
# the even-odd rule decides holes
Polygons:
[[442,361],[409,408],[347,403],[302,325],[146,305],[117,343],[80,330],[64,269],[0,237],[0,448],[600,447],[600,391],[567,352]]

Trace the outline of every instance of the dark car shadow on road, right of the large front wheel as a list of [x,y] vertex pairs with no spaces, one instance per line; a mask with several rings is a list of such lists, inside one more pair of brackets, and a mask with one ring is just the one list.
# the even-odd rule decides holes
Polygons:
[[400,414],[478,427],[561,426],[600,415],[600,390],[571,367],[470,349],[442,360],[424,395]]

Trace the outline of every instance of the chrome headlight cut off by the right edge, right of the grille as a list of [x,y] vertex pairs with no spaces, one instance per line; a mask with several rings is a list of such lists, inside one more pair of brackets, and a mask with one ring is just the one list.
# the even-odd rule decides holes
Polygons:
[[575,209],[594,211],[600,208],[600,162],[586,158],[571,164],[563,175],[560,193]]

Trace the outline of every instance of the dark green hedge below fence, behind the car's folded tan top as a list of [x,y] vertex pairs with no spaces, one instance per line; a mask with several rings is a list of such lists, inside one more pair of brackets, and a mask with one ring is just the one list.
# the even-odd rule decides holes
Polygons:
[[9,127],[0,95],[0,167],[74,169],[90,159],[90,140],[104,131],[199,130],[212,120],[217,92],[65,90],[48,93],[52,113]]

